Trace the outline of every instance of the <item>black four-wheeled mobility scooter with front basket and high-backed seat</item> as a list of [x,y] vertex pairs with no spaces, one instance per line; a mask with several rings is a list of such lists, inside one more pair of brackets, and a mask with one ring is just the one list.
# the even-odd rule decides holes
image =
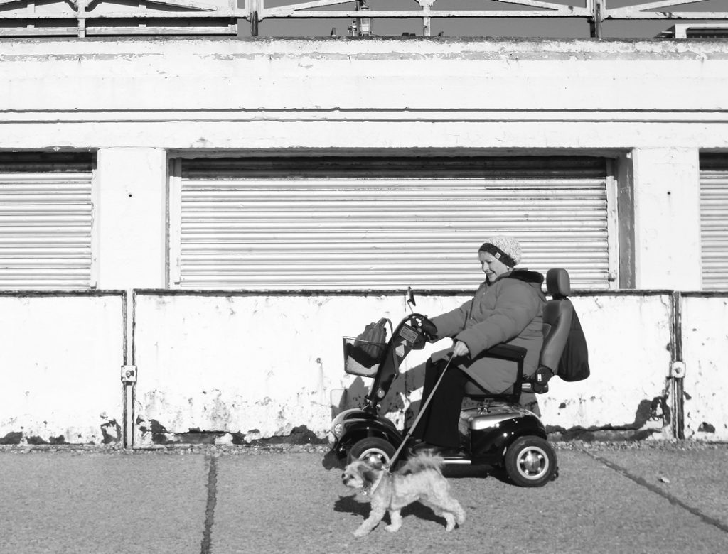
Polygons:
[[[558,476],[556,454],[547,442],[543,423],[536,414],[518,404],[522,392],[547,392],[548,380],[555,374],[569,335],[574,313],[567,298],[570,292],[569,274],[560,268],[549,270],[546,283],[547,292],[553,300],[548,300],[544,308],[544,344],[537,372],[530,377],[523,375],[525,348],[502,343],[481,354],[513,361],[518,366],[518,377],[513,388],[499,395],[488,393],[475,382],[468,382],[465,396],[480,404],[462,410],[459,423],[461,449],[457,455],[443,457],[446,465],[503,467],[513,483],[526,487],[543,486]],[[415,305],[411,292],[408,305]],[[392,465],[397,462],[397,457],[405,458],[412,454],[412,441],[409,439],[419,422],[419,415],[410,429],[403,433],[381,415],[379,409],[403,359],[411,350],[424,348],[427,329],[432,327],[426,316],[411,313],[392,330],[388,342],[365,343],[344,337],[344,371],[360,377],[373,377],[373,383],[362,407],[344,410],[333,419],[333,452],[337,457],[346,458],[347,462],[373,458]],[[365,349],[370,355],[368,360],[374,363],[367,364],[367,356],[359,356],[361,352],[357,349]],[[372,351],[377,352],[373,357]],[[427,409],[430,398],[422,399],[420,414]]]

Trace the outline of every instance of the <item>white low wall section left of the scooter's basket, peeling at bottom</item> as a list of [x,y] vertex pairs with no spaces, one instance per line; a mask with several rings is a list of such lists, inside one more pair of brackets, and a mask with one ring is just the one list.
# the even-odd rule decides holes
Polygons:
[[357,334],[382,309],[394,309],[392,317],[399,318],[403,302],[140,294],[138,415],[176,433],[227,430],[253,439],[306,425],[325,435],[331,390],[350,381],[342,333]]

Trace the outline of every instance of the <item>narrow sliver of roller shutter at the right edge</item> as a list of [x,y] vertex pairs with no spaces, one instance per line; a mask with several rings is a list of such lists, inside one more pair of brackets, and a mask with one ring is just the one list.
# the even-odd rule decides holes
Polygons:
[[700,156],[703,289],[728,290],[728,156]]

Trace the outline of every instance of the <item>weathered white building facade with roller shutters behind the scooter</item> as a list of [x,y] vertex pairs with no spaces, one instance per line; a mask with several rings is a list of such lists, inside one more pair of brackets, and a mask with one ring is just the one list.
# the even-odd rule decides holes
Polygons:
[[542,397],[547,425],[728,437],[724,41],[44,38],[0,60],[7,441],[323,437],[365,386],[341,336],[403,317],[408,286],[431,315],[466,300],[496,233],[569,270],[583,313],[593,377]]

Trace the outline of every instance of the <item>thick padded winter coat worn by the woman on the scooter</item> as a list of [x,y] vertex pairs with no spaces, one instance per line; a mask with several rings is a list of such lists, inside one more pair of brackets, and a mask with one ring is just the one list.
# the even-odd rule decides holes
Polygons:
[[536,372],[543,344],[541,273],[525,269],[504,273],[492,284],[484,282],[470,302],[432,318],[437,339],[460,340],[470,350],[469,364],[460,366],[472,380],[491,393],[502,393],[515,382],[515,362],[481,356],[488,348],[505,342],[526,348],[523,373]]

